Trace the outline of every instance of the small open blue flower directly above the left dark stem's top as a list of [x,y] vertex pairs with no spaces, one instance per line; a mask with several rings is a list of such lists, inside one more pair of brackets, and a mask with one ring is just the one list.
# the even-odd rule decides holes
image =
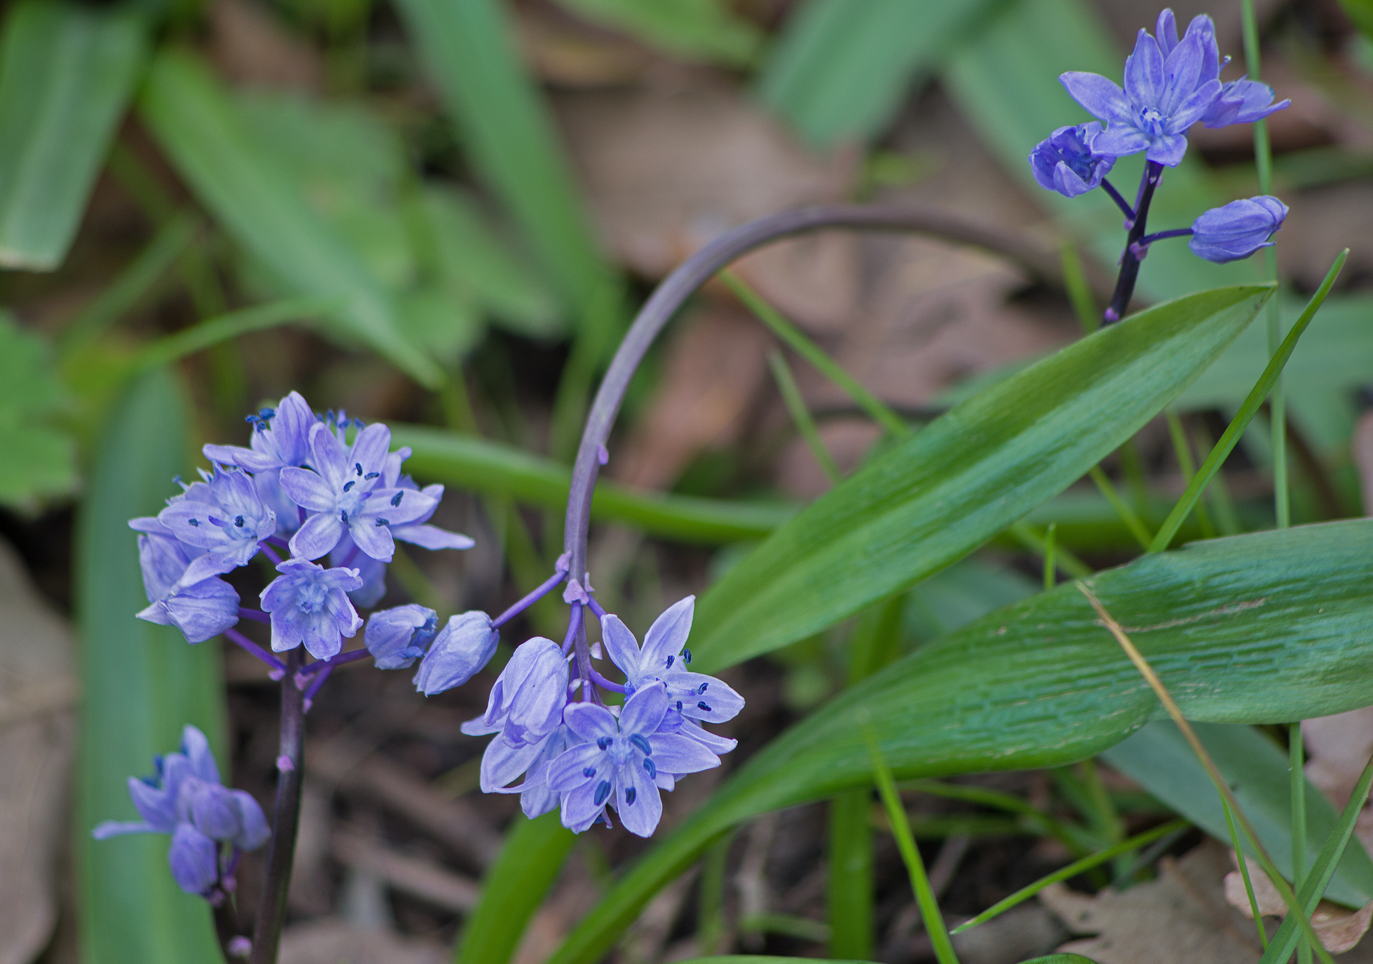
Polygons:
[[272,650],[286,652],[303,643],[316,659],[336,656],[343,637],[362,628],[347,597],[362,585],[357,570],[287,559],[276,571],[280,575],[262,590],[262,610],[272,614]]

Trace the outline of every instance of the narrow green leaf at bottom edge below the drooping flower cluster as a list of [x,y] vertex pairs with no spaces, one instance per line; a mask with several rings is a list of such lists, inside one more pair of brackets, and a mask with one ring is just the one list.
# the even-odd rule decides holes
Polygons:
[[505,829],[505,846],[482,879],[482,894],[463,924],[454,964],[504,964],[511,959],[575,842],[556,810],[537,820],[515,814]]

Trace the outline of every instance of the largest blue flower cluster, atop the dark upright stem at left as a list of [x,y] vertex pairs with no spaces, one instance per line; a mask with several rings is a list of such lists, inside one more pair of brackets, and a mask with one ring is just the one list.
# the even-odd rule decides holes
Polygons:
[[[472,540],[428,523],[443,486],[420,489],[401,474],[409,449],[391,452],[386,426],[342,412],[316,415],[294,391],[249,423],[247,448],[206,445],[211,471],[181,483],[183,493],[155,518],[129,523],[140,533],[150,603],[139,617],[176,626],[189,643],[225,633],[281,674],[284,663],[233,629],[242,618],[270,622],[273,652],[303,645],[320,661],[297,674],[313,696],[332,666],[375,655],[373,640],[391,647],[394,628],[415,621],[417,607],[373,614],[367,650],[342,652],[343,639],[364,625],[357,607],[386,595],[395,540],[426,549],[467,549]],[[222,577],[258,553],[279,575],[262,590],[261,610],[253,610]],[[401,647],[408,659],[387,650],[378,666],[398,669],[423,658],[435,637],[432,619],[428,612],[411,626]]]

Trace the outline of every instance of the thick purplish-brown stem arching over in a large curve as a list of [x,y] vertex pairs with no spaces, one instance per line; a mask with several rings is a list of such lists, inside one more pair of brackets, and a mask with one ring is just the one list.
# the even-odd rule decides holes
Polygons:
[[600,471],[600,453],[610,438],[629,382],[648,347],[677,310],[718,271],[754,249],[783,238],[821,229],[891,231],[923,233],[958,244],[980,247],[1015,261],[1039,280],[1061,286],[1059,258],[1022,238],[978,224],[949,211],[890,205],[825,205],[770,214],[729,231],[696,251],[673,271],[640,309],[605,378],[596,391],[582,431],[573,485],[567,497],[564,548],[571,553],[571,578],[586,579],[586,536],[592,518],[592,493]]

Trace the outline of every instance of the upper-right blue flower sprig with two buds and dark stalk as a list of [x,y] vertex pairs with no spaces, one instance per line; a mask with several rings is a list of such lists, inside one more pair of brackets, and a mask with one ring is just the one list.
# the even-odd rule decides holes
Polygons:
[[[1116,298],[1107,321],[1119,320],[1134,288],[1138,262],[1151,243],[1190,236],[1190,249],[1207,261],[1247,258],[1270,244],[1282,227],[1287,206],[1258,196],[1208,210],[1190,228],[1145,235],[1149,202],[1164,168],[1175,168],[1188,150],[1193,124],[1225,128],[1252,124],[1291,102],[1273,102],[1273,89],[1247,77],[1221,81],[1221,59],[1211,18],[1200,15],[1178,38],[1171,10],[1159,14],[1156,36],[1140,30],[1134,52],[1124,62],[1124,88],[1100,74],[1072,70],[1059,80],[1096,121],[1059,128],[1030,152],[1035,180],[1049,191],[1075,198],[1101,187],[1126,217],[1130,238],[1122,255]],[[1118,158],[1144,152],[1145,172],[1130,205],[1105,180]]]

